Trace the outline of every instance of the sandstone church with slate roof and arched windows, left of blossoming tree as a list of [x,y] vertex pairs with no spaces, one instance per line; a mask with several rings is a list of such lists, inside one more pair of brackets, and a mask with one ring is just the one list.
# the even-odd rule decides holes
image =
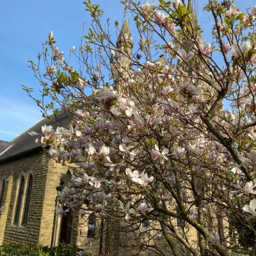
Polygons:
[[[61,111],[56,123],[70,124],[68,114]],[[104,241],[94,239],[87,226],[78,227],[79,214],[56,214],[58,191],[67,184],[71,173],[67,166],[49,159],[29,131],[42,132],[42,126],[57,124],[47,119],[34,125],[10,143],[0,141],[0,245],[38,243],[56,246],[59,243],[90,244],[92,252],[100,255]],[[89,216],[88,225],[97,225]],[[105,245],[104,245],[105,248]]]

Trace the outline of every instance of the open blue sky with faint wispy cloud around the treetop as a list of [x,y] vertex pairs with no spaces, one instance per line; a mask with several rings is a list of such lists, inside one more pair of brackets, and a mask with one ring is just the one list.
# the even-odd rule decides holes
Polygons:
[[[143,1],[141,1],[143,2]],[[153,1],[150,1],[152,3]],[[157,1],[154,1],[157,3]],[[202,29],[209,29],[209,17],[202,13],[207,0],[198,0]],[[123,6],[119,0],[94,0],[104,10],[104,19],[122,20]],[[254,0],[236,1],[245,10]],[[0,140],[11,141],[42,119],[40,110],[29,99],[20,84],[40,90],[28,68],[28,60],[36,60],[41,42],[50,31],[61,51],[68,54],[72,45],[79,45],[83,23],[90,26],[90,15],[84,11],[83,0],[2,0],[0,8]],[[39,94],[38,94],[39,95]]]

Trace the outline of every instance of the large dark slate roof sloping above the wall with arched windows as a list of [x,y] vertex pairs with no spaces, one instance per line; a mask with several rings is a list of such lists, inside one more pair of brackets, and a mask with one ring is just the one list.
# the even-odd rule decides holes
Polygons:
[[[60,113],[52,118],[55,122],[51,122],[47,118],[44,118],[42,121],[40,121],[38,124],[34,125],[28,131],[23,132],[15,138],[13,141],[11,141],[11,144],[13,145],[10,147],[6,152],[4,152],[0,156],[0,163],[6,160],[13,159],[15,157],[22,156],[23,154],[26,154],[28,152],[33,152],[35,150],[40,150],[42,147],[40,143],[36,144],[36,136],[31,136],[28,134],[30,131],[38,132],[39,134],[42,134],[42,126],[43,125],[52,125],[53,129],[56,129],[60,124],[62,126],[67,126],[70,124],[70,118],[67,112],[60,111]],[[1,145],[1,144],[0,144]],[[1,152],[1,150],[0,150]]]

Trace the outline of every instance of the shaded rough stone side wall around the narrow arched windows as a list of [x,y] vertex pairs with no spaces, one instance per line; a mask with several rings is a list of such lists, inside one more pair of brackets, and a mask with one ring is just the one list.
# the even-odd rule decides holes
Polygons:
[[[44,209],[48,165],[49,159],[42,153],[30,154],[29,156],[20,157],[6,163],[0,163],[0,180],[2,177],[10,177],[9,179],[13,179],[13,185],[10,186],[10,184],[8,184],[8,186],[6,186],[6,199],[4,201],[5,216],[4,214],[0,216],[0,239],[3,237],[3,239],[0,240],[0,244],[7,242],[38,243],[42,224],[42,211]],[[29,205],[28,223],[22,225],[30,173],[33,175],[33,191]],[[13,224],[20,175],[24,175],[25,188],[22,196],[19,223]],[[3,222],[5,222],[5,225]]]

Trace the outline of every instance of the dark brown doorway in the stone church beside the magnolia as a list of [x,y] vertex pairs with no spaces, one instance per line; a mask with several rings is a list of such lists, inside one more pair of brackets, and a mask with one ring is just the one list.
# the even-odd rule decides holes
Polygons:
[[73,232],[73,213],[71,211],[66,212],[61,218],[60,227],[60,243],[71,244],[72,232]]

